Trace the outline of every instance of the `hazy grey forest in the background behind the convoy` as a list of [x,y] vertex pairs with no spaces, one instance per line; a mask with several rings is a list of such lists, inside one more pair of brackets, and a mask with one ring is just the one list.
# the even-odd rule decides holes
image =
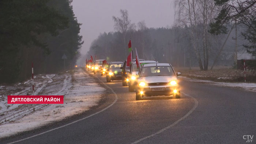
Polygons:
[[[175,25],[161,28],[148,28],[144,20],[137,24],[132,23],[128,11],[120,10],[120,17],[113,16],[116,31],[100,34],[91,43],[86,57],[96,55],[97,59],[124,61],[128,56],[128,42],[131,39],[133,50],[136,47],[139,58],[146,60],[170,62],[175,67],[199,66],[201,70],[207,70],[214,62],[216,65],[233,66],[235,45],[231,37],[234,37],[235,31],[230,31],[233,29],[232,25],[226,25],[230,34],[214,35],[209,32],[210,22],[214,22],[214,16],[209,22],[200,23],[195,20],[196,24],[189,24],[189,18],[184,18],[185,15],[181,15],[184,12],[181,12],[182,9],[179,10],[177,14],[180,16],[177,17]],[[238,33],[242,33],[243,27],[238,27]],[[245,41],[242,35],[238,35],[237,38],[238,51],[243,52],[245,49],[242,44]]]

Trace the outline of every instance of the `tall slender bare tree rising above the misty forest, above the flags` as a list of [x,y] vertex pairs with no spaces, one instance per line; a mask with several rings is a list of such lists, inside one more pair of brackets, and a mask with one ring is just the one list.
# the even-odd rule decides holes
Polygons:
[[135,24],[131,23],[131,20],[128,17],[128,11],[127,10],[120,10],[121,17],[115,17],[113,16],[114,20],[114,29],[122,33],[123,35],[123,40],[124,40],[124,51],[125,51],[125,56],[127,55],[127,43],[125,41],[126,33],[129,29],[134,29]]

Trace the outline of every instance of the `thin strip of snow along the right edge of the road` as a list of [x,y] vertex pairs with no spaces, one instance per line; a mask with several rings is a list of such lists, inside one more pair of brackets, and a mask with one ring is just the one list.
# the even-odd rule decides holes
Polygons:
[[232,88],[241,88],[248,91],[256,91],[256,83],[224,83],[224,82],[213,82],[211,80],[199,80],[199,79],[191,79],[185,76],[179,76],[184,80],[189,80],[197,83],[207,83],[220,87],[232,87]]

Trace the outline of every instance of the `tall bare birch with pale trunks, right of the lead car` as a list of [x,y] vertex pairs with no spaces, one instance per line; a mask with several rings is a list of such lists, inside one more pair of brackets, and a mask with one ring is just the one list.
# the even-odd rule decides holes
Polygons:
[[[175,12],[176,24],[179,26],[188,26],[193,50],[201,70],[208,70],[210,51],[208,25],[217,14],[215,7],[214,0],[175,0],[175,9],[177,8]],[[203,26],[202,48],[199,45],[199,25]],[[203,64],[201,54],[203,54]]]

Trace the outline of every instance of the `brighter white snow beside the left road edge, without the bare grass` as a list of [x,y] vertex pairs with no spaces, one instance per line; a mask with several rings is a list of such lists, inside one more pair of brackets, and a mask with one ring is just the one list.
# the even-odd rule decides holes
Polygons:
[[[64,77],[64,80],[59,79],[49,83],[49,86],[45,86],[46,83],[43,82],[41,90],[37,89],[37,93],[41,91],[42,95],[64,95],[64,104],[35,105],[34,112],[33,107],[20,112],[12,111],[10,120],[13,122],[0,125],[0,138],[47,125],[50,122],[60,121],[89,110],[91,106],[97,105],[101,94],[105,91],[105,88],[99,86],[83,69],[75,69],[72,77],[70,74],[64,74]],[[72,78],[74,79],[73,83]],[[62,82],[57,84],[60,80]],[[54,92],[56,89],[59,90]],[[15,117],[21,118],[15,119]]]

